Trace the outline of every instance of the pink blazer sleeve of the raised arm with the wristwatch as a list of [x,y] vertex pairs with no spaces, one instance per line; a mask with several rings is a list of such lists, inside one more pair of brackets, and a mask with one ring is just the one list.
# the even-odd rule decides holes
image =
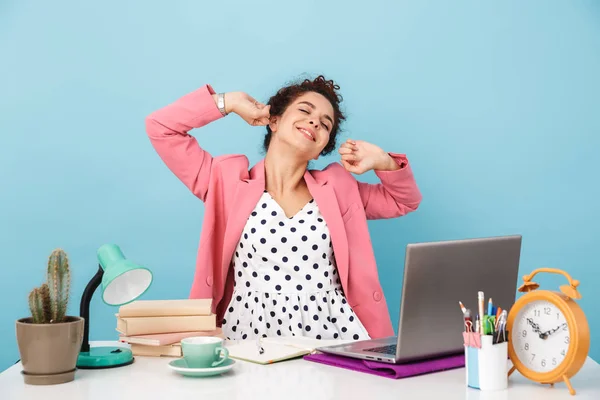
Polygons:
[[202,201],[206,199],[213,157],[188,132],[223,117],[210,85],[186,94],[146,117],[146,133],[166,166]]

